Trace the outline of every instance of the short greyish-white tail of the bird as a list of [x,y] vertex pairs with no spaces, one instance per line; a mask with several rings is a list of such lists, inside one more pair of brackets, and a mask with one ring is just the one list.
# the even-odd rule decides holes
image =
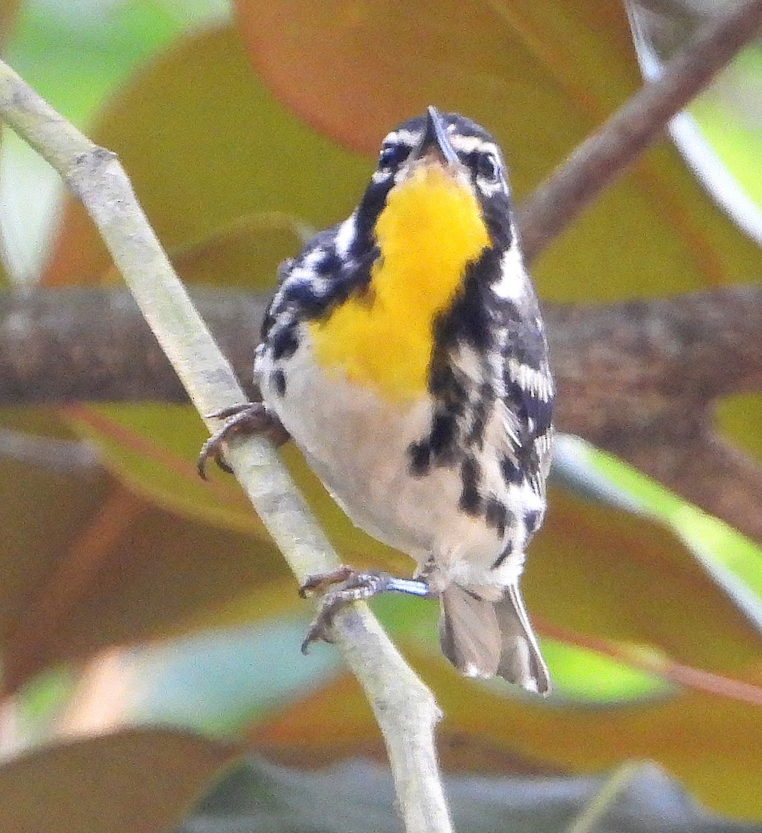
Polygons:
[[450,585],[440,603],[439,644],[462,674],[501,676],[527,691],[549,693],[548,667],[518,586],[509,586],[499,601],[487,601]]

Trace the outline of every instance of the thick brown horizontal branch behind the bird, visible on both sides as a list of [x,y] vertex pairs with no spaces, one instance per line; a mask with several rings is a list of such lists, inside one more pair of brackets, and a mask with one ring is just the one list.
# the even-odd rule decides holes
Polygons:
[[[266,298],[196,287],[193,300],[250,385]],[[762,542],[762,470],[713,428],[717,397],[762,390],[762,285],[544,314],[559,429]],[[128,292],[0,295],[0,405],[75,401],[187,396]]]

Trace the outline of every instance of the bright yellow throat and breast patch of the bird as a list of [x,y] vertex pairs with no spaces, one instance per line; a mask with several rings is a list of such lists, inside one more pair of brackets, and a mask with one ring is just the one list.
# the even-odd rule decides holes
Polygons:
[[426,391],[434,318],[453,301],[489,234],[471,189],[424,163],[389,192],[375,236],[381,255],[370,292],[308,329],[325,372],[406,402]]

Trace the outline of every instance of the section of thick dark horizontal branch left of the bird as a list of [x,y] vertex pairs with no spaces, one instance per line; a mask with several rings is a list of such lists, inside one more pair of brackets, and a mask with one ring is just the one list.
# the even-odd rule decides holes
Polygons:
[[[250,380],[264,300],[195,298],[238,378]],[[127,290],[0,293],[0,404],[144,401],[188,394]]]

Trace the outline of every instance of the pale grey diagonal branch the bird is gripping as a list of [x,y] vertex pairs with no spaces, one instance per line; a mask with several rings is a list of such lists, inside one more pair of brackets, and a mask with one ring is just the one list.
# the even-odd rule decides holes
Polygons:
[[[174,274],[114,154],[93,145],[2,62],[0,112],[83,202],[198,411],[242,402],[232,368]],[[216,427],[212,418],[205,421]],[[233,441],[228,462],[299,581],[338,564],[267,441]],[[339,614],[336,637],[384,733],[407,830],[447,833],[452,827],[434,750],[434,697],[366,607]]]

